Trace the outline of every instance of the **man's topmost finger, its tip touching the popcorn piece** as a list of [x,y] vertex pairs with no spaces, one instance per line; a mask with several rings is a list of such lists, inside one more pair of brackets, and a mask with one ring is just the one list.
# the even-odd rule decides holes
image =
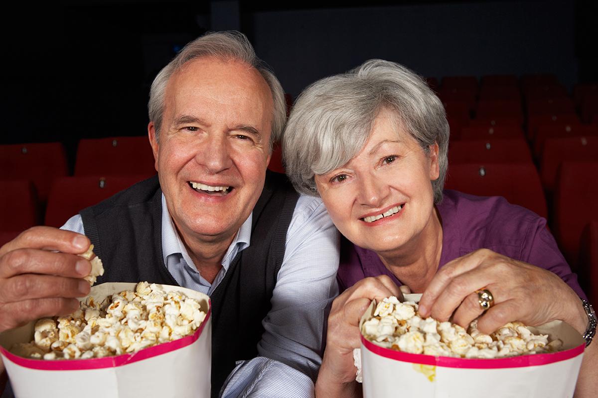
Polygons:
[[22,232],[0,248],[0,257],[23,248],[60,251],[71,254],[84,253],[90,245],[87,236],[54,227],[37,226]]

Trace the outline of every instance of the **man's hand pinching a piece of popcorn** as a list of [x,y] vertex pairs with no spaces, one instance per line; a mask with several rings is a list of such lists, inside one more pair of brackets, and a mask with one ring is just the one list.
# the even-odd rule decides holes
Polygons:
[[44,316],[75,311],[89,294],[83,278],[89,260],[86,236],[52,227],[33,227],[0,248],[0,332]]

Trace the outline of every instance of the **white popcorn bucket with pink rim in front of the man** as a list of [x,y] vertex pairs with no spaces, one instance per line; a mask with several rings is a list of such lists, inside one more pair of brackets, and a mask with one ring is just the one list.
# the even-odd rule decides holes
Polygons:
[[[101,302],[115,292],[134,291],[135,286],[136,283],[102,283],[93,286],[89,295]],[[166,292],[183,292],[201,304],[206,319],[192,335],[132,354],[92,359],[39,360],[16,356],[8,351],[14,343],[29,343],[33,340],[35,322],[30,322],[0,334],[0,353],[15,396],[209,397],[212,364],[210,299],[205,294],[180,286],[158,286]]]

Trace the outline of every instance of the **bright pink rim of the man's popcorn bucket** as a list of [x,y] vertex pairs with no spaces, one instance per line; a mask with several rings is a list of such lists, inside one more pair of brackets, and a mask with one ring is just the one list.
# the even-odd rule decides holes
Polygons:
[[137,362],[139,360],[144,360],[161,354],[169,353],[170,351],[179,350],[179,348],[187,347],[187,345],[195,343],[202,334],[203,328],[205,328],[206,323],[208,323],[208,319],[210,319],[210,315],[212,314],[212,303],[210,301],[208,301],[208,303],[210,308],[206,313],[206,318],[203,320],[202,325],[197,328],[192,335],[179,338],[179,340],[152,345],[151,347],[143,348],[136,353],[90,359],[44,360],[24,358],[22,356],[15,355],[1,345],[0,352],[7,359],[19,366],[29,369],[39,369],[41,371],[79,371],[82,369],[114,368],[115,366],[128,365],[129,363]]

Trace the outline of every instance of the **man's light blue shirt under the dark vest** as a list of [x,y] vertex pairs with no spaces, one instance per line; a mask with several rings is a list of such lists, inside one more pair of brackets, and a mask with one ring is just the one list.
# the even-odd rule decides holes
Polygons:
[[[213,283],[193,264],[162,195],[163,260],[176,282],[184,288],[212,294],[240,251],[251,242],[252,215],[240,227],[222,258],[222,269]],[[62,229],[84,233],[80,215]],[[300,196],[286,233],[285,256],[271,299],[271,310],[262,321],[264,334],[259,357],[237,362],[224,384],[222,397],[312,397],[313,381],[321,364],[325,310],[338,294],[339,239],[322,201]]]

